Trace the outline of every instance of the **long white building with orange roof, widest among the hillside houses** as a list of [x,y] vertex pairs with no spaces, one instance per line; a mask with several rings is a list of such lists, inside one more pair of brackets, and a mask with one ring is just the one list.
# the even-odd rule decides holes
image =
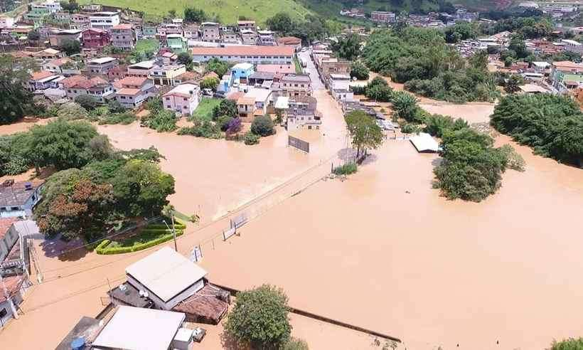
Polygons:
[[207,62],[218,58],[228,62],[252,64],[291,65],[294,49],[286,46],[226,46],[220,48],[192,48],[193,60]]

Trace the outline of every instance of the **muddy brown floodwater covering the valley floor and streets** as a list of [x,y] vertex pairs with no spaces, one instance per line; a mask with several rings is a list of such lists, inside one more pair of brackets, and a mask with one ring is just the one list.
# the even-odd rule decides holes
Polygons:
[[[100,131],[122,149],[158,147],[166,156],[162,167],[176,178],[172,203],[210,221],[346,147],[338,107],[317,93],[326,136],[303,135],[314,138],[310,154],[287,149],[282,130],[252,147],[137,124]],[[443,105],[476,122],[487,115],[481,105]],[[214,249],[205,243],[202,265],[211,281],[278,285],[294,307],[397,336],[407,349],[544,349],[552,339],[581,336],[583,171],[514,146],[526,171],[507,171],[498,193],[468,203],[447,201],[431,188],[437,156],[388,140],[348,180],[320,181],[279,204],[278,198],[240,236],[218,239]],[[189,228],[179,250],[188,254],[225,225]],[[100,311],[108,282],[122,281],[127,265],[158,247],[60,259],[41,249],[45,282],[26,295],[21,319],[0,332],[0,344],[11,349],[54,349],[82,315]],[[311,349],[364,349],[370,341],[311,320],[292,323]]]

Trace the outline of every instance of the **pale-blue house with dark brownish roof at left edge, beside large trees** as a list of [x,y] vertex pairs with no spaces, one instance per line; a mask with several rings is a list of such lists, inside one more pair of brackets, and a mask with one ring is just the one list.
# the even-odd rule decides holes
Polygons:
[[31,216],[41,199],[43,181],[19,181],[0,186],[0,217]]

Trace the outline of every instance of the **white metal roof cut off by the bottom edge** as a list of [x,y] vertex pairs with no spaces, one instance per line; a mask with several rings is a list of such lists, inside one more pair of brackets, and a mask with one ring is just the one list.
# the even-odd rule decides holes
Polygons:
[[169,349],[186,315],[183,312],[120,306],[93,341],[109,349]]

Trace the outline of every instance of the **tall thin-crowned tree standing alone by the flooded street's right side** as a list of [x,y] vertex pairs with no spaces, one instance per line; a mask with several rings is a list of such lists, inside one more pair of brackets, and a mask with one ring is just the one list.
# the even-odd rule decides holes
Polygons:
[[383,130],[370,115],[363,111],[353,111],[349,112],[344,120],[353,147],[356,147],[357,157],[360,157],[360,152],[366,153],[367,149],[377,149],[383,144]]

